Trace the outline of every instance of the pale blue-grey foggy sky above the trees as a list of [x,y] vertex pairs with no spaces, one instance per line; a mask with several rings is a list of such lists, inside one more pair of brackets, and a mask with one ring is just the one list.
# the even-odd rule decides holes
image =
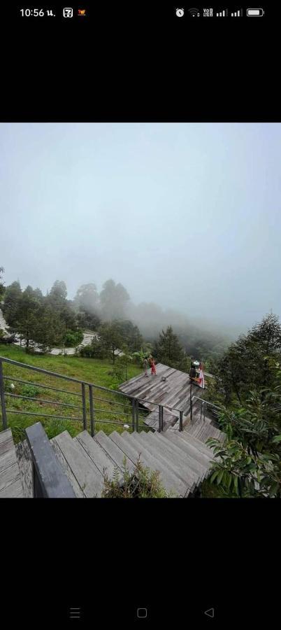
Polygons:
[[281,125],[1,123],[0,266],[68,297],[248,328],[281,315]]

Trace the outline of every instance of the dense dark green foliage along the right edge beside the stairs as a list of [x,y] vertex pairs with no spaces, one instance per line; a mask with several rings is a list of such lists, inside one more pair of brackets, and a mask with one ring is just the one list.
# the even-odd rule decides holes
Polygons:
[[221,496],[281,496],[281,326],[269,314],[231,344],[217,364],[209,398],[219,403],[222,445],[210,482]]

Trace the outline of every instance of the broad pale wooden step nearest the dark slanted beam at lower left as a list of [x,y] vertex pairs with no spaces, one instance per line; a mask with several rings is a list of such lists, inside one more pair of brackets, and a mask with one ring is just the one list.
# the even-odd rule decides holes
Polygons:
[[[84,496],[87,498],[101,496],[103,490],[103,475],[101,475],[99,469],[96,468],[96,465],[89,456],[87,456],[85,449],[82,448],[78,440],[72,440],[69,432],[64,431],[53,438],[52,444],[54,442],[62,451],[62,455],[68,464],[66,470],[71,468],[71,472],[78,482]],[[72,485],[71,479],[73,479],[73,477],[69,477],[69,481]],[[73,490],[76,491],[76,488],[77,484],[75,484],[75,487],[73,486]]]

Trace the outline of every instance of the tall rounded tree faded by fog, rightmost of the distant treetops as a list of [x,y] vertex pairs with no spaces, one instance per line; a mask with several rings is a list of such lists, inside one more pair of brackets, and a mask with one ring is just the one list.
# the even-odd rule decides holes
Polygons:
[[114,280],[107,280],[99,295],[101,301],[102,318],[106,321],[124,318],[125,309],[129,302],[129,293],[120,283]]

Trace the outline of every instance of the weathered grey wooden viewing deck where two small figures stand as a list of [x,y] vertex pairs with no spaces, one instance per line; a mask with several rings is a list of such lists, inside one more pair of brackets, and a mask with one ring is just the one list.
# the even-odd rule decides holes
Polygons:
[[[120,391],[128,395],[135,396],[140,400],[145,409],[150,410],[150,414],[145,418],[145,424],[157,428],[158,426],[158,405],[164,405],[164,430],[173,426],[179,419],[178,411],[183,412],[183,423],[187,422],[190,410],[190,382],[189,374],[175,370],[163,363],[157,363],[157,374],[138,374],[138,376],[122,383]],[[162,381],[165,377],[166,380]],[[192,386],[192,394],[201,396],[203,390]],[[152,402],[146,402],[146,400]],[[156,403],[156,404],[153,404]],[[169,409],[167,409],[169,407]]]

